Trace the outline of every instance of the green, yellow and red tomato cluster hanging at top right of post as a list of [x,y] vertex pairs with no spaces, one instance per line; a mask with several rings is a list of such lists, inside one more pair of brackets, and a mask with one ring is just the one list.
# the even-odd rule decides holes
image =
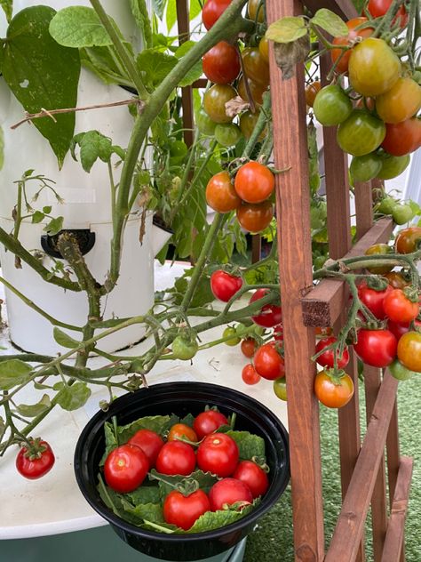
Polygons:
[[[380,5],[382,4],[382,5]],[[383,16],[391,0],[370,0],[369,12]],[[397,19],[404,27],[408,15],[402,6]],[[338,145],[353,156],[353,181],[390,180],[409,165],[409,154],[421,146],[421,86],[383,39],[372,37],[364,17],[346,22],[348,35],[336,37],[331,58],[338,74],[348,76],[353,97],[338,80],[306,95],[314,115],[325,126],[338,125]],[[360,39],[360,41],[356,41]],[[339,46],[348,45],[344,50]],[[356,97],[354,97],[356,95]],[[307,101],[308,103],[308,101]]]

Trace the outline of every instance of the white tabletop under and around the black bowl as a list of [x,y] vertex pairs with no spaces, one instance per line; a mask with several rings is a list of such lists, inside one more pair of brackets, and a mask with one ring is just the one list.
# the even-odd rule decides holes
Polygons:
[[[172,285],[183,270],[181,264],[155,265],[155,288],[163,290]],[[203,321],[203,318],[200,319]],[[213,328],[203,333],[203,341],[221,337],[223,327]],[[15,352],[7,339],[7,333],[0,338],[1,353]],[[141,344],[135,346],[128,355],[136,355]],[[242,356],[238,346],[218,345],[201,351],[193,365],[183,361],[161,361],[147,375],[149,384],[168,381],[206,381],[238,389],[255,397],[274,411],[287,427],[286,404],[279,400],[272,388],[272,381],[260,381],[255,386],[242,382],[242,367],[247,359]],[[101,359],[94,357],[90,366],[101,365]],[[22,391],[20,402],[33,403],[33,395],[28,389]],[[26,392],[26,395],[24,394]],[[99,409],[99,400],[107,398],[103,389],[93,388],[91,398],[83,408],[65,412],[54,408],[34,431],[33,437],[42,437],[53,448],[56,462],[44,478],[27,480],[17,472],[14,462],[17,447],[9,449],[0,459],[0,539],[22,539],[49,534],[68,533],[91,527],[106,525],[106,521],[91,509],[76,485],[73,471],[75,443],[83,427]]]

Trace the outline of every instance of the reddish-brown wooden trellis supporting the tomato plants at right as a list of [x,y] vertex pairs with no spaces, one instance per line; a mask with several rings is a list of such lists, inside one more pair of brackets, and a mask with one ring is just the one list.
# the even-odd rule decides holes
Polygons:
[[[304,4],[300,0],[266,0],[268,23],[301,15],[304,6],[311,12],[328,8],[345,20],[358,15],[351,0],[304,0]],[[179,34],[186,39],[188,0],[177,0],[177,10]],[[322,57],[322,83],[329,70],[330,58]],[[314,355],[314,327],[333,325],[338,330],[344,322],[348,293],[343,282],[333,279],[313,287],[304,70],[298,66],[294,78],[282,81],[271,47],[270,75],[275,166],[290,166],[290,172],[276,176],[276,216],[288,373],[295,560],[363,562],[364,528],[371,504],[374,562],[404,562],[412,459],[401,456],[399,450],[398,381],[387,371],[365,367],[368,427],[361,443],[358,374],[353,354],[347,372],[353,378],[355,394],[338,411],[343,504],[329,549],[325,550],[319,403],[314,396],[315,365],[310,357]],[[203,87],[203,81],[194,86]],[[183,89],[183,113],[185,128],[193,129],[191,88]],[[187,132],[187,144],[191,139]],[[352,245],[347,157],[338,147],[335,127],[324,127],[323,145],[330,257],[361,255],[369,245],[388,241],[393,222],[382,219],[373,224],[375,186],[357,184],[354,199],[358,242]]]

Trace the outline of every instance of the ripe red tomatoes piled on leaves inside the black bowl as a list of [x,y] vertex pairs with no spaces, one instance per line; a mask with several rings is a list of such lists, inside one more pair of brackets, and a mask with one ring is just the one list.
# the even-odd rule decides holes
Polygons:
[[186,477],[202,470],[220,479],[208,494],[203,489],[186,493],[174,489],[167,494],[163,499],[165,522],[187,531],[207,511],[226,506],[242,510],[266,494],[269,480],[256,462],[240,460],[234,438],[218,432],[228,424],[223,413],[210,409],[195,416],[192,427],[185,423],[173,425],[166,441],[155,431],[137,431],[107,455],[107,486],[127,494],[142,485],[151,469],[160,475]]

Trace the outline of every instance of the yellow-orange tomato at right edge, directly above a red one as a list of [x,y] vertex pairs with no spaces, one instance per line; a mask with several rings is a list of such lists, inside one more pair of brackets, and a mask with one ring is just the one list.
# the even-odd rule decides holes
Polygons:
[[421,107],[421,86],[412,78],[398,78],[390,90],[376,98],[377,115],[385,123],[401,123]]

